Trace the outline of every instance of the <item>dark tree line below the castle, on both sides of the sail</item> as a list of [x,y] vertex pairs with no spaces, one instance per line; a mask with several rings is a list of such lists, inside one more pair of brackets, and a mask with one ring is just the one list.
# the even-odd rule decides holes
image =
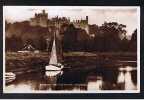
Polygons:
[[[39,26],[31,27],[28,23],[24,25],[25,27],[22,28],[26,29],[23,29],[24,32],[20,31],[21,35],[13,34],[11,37],[6,37],[6,51],[21,50],[26,44],[31,44],[36,49],[45,51],[47,48],[47,37],[50,37],[50,44],[52,44],[53,36],[50,36],[51,32],[48,31],[49,29],[43,29]],[[18,26],[20,27],[20,25]],[[23,38],[27,31],[30,35],[29,38]],[[46,36],[46,34],[49,35]],[[76,28],[73,24],[63,24],[60,28],[61,39],[57,43],[61,45],[64,52],[136,52],[137,29],[134,30],[130,39],[127,38],[127,34],[126,25],[117,22],[105,22],[101,26],[89,25],[89,34],[84,29]]]

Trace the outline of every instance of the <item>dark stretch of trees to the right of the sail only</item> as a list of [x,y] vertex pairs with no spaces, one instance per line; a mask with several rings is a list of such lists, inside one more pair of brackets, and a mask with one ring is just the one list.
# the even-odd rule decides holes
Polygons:
[[[125,28],[126,25],[116,22],[105,22],[102,26],[92,25],[89,33],[91,37],[84,30],[69,25],[64,32],[63,49],[65,51],[136,52],[137,29],[129,40]],[[80,35],[83,35],[82,39],[79,39]]]

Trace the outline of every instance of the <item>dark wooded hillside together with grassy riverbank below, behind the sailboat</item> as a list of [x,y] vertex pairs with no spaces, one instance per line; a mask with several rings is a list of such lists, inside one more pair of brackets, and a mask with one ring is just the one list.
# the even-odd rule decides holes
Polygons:
[[[87,26],[88,32],[76,27],[74,23],[62,21],[60,24],[56,46],[57,56],[64,65],[64,70],[94,70],[99,67],[118,69],[120,66],[136,66],[137,29],[128,36],[127,26],[118,22]],[[45,71],[45,66],[49,64],[56,29],[55,24],[52,27],[41,27],[30,25],[29,20],[14,23],[6,21],[6,72],[21,74]],[[17,52],[25,50],[40,52]],[[48,52],[45,52],[46,50]]]

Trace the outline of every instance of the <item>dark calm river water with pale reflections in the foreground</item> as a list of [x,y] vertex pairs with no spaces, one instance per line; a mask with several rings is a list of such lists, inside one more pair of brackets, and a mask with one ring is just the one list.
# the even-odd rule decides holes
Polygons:
[[87,90],[136,90],[136,68],[95,68],[92,70],[64,70],[36,72],[18,76],[6,85],[5,91],[27,93],[35,90],[87,91]]

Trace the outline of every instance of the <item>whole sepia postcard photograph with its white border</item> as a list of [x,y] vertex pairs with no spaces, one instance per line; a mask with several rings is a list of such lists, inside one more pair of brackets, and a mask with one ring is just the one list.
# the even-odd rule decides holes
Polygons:
[[140,93],[138,6],[3,6],[4,93]]

